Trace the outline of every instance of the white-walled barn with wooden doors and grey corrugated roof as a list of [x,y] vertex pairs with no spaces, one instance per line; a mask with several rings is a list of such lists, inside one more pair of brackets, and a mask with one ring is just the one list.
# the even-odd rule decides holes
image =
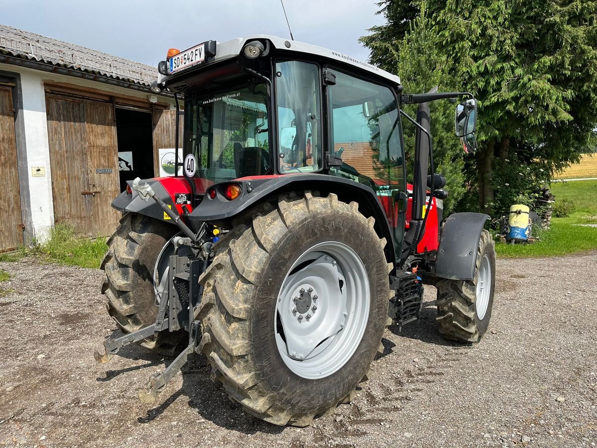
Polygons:
[[[54,223],[110,235],[110,202],[164,174],[176,110],[155,67],[0,25],[0,251]],[[169,150],[170,149],[170,150]]]

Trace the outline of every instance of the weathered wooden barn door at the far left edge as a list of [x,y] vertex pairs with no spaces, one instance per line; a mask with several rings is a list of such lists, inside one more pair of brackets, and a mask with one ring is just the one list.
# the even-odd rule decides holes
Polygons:
[[23,243],[13,107],[12,89],[0,85],[0,251],[14,249]]

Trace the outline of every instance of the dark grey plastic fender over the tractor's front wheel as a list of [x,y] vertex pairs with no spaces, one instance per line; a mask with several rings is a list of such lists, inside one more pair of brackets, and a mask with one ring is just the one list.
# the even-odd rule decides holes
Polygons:
[[454,213],[445,220],[435,262],[435,275],[453,280],[475,277],[477,248],[489,216],[484,213]]

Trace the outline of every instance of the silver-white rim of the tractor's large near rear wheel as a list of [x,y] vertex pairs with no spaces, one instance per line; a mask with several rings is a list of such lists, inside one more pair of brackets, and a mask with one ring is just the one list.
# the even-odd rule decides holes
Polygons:
[[327,241],[305,251],[276,302],[274,334],[284,363],[306,379],[337,372],[361,343],[370,300],[367,270],[352,248]]

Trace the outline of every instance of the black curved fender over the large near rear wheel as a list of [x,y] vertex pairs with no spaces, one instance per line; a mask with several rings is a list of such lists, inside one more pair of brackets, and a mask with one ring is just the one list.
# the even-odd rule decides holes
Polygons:
[[[223,186],[235,182],[241,187],[241,194],[229,201],[223,195]],[[232,226],[232,219],[254,205],[267,201],[272,197],[291,191],[318,191],[322,195],[334,193],[342,202],[356,201],[359,212],[365,217],[376,220],[375,230],[380,237],[386,238],[386,259],[395,263],[395,251],[390,231],[390,223],[383,211],[381,202],[370,186],[356,183],[353,180],[327,174],[278,174],[272,176],[243,177],[212,186],[216,197],[205,195],[189,219],[193,226],[204,221],[217,222],[220,225]]]

